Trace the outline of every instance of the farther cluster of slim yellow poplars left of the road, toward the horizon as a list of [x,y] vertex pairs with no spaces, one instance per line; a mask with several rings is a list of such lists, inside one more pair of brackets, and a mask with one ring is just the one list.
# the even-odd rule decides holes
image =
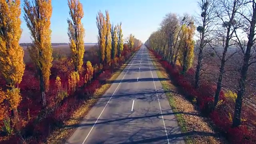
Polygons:
[[[111,60],[116,56],[121,57],[124,49],[124,40],[122,34],[122,22],[117,25],[110,23],[110,16],[108,10],[104,14],[99,11],[96,16],[96,24],[98,28],[98,47],[100,63],[110,65]],[[138,42],[139,44],[139,42]],[[141,44],[141,42],[140,42]],[[134,48],[134,36],[130,34],[128,39],[130,50]]]

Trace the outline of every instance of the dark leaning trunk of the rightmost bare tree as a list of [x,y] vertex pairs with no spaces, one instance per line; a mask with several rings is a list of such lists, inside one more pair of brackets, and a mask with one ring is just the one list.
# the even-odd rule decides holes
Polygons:
[[[253,6],[254,2],[253,2]],[[242,66],[242,70],[240,72],[241,77],[239,80],[239,85],[238,85],[238,92],[237,92],[237,98],[236,98],[236,104],[235,104],[235,111],[234,111],[234,118],[232,122],[233,127],[240,126],[241,124],[241,109],[242,109],[242,101],[244,97],[244,92],[245,92],[245,81],[247,77],[247,71],[249,65],[249,60],[250,60],[250,55],[251,55],[251,48],[253,46],[253,38],[255,35],[255,24],[256,24],[256,10],[255,8],[253,9],[253,14],[252,14],[252,21],[250,22],[250,31],[249,31],[249,37],[248,37],[248,43],[247,43],[247,48],[246,52],[244,54],[244,64]]]

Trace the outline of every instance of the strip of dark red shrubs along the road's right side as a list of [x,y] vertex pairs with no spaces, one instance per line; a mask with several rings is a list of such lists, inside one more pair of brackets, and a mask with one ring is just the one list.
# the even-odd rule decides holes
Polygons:
[[[204,114],[208,114],[212,122],[224,133],[230,143],[232,144],[255,144],[256,143],[256,134],[252,130],[248,130],[245,125],[239,126],[238,128],[232,128],[232,123],[228,118],[228,114],[224,111],[223,108],[218,108],[212,110],[214,102],[214,93],[216,86],[202,82],[201,86],[198,89],[195,89],[191,82],[186,77],[194,76],[195,72],[192,68],[188,70],[186,76],[180,74],[182,68],[180,66],[172,67],[168,62],[162,61],[161,57],[156,54],[152,49],[150,51],[155,55],[155,57],[160,61],[162,66],[166,71],[172,76],[173,80],[184,90],[187,96],[190,98],[196,98],[197,105]],[[219,100],[223,102],[223,105],[226,102],[224,97],[224,92],[221,90]]]

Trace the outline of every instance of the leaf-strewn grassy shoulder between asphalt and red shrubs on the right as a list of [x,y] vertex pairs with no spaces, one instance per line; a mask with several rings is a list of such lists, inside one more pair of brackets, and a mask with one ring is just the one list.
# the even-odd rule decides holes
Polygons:
[[[152,62],[156,67],[158,78],[167,78],[169,75],[159,62],[152,56]],[[169,104],[178,121],[186,144],[220,144],[222,138],[212,130],[207,120],[200,116],[194,105],[185,99],[170,80],[161,81]]]

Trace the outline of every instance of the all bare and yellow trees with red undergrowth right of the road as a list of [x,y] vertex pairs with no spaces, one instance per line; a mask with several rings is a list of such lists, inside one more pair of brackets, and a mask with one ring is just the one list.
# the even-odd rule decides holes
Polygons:
[[198,16],[166,14],[145,43],[232,144],[256,143],[255,4],[199,0]]

